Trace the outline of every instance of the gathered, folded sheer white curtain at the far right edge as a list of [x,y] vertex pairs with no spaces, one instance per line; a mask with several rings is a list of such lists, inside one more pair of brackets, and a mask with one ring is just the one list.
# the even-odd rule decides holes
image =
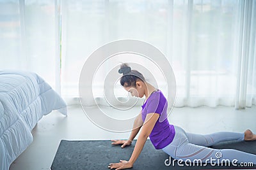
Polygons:
[[256,103],[256,1],[239,1],[239,22],[236,39],[237,109]]

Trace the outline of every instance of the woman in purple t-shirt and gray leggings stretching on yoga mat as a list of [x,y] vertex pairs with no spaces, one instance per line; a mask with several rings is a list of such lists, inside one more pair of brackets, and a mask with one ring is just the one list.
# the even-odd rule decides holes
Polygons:
[[161,90],[150,85],[140,72],[131,70],[131,67],[127,64],[122,64],[118,73],[123,74],[120,83],[124,89],[130,92],[132,96],[140,98],[145,96],[145,102],[141,113],[134,120],[129,139],[112,140],[113,145],[122,145],[121,147],[124,148],[127,145],[131,145],[132,140],[141,129],[131,158],[128,161],[120,160],[119,163],[111,163],[108,166],[109,168],[131,168],[140,155],[148,136],[157,150],[162,149],[173,159],[189,159],[191,162],[195,159],[200,159],[202,162],[207,162],[210,158],[216,159],[216,153],[221,153],[222,157],[218,157],[220,162],[223,159],[229,159],[230,161],[237,159],[238,162],[253,162],[253,164],[256,164],[256,155],[250,153],[231,149],[217,150],[207,148],[207,146],[214,145],[220,141],[256,140],[256,135],[252,131],[246,130],[244,133],[216,132],[208,135],[185,132],[180,127],[169,124],[166,113],[168,104]]

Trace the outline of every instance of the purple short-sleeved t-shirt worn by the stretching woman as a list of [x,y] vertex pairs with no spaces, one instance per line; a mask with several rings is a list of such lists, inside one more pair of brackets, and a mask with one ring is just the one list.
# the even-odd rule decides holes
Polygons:
[[160,115],[149,136],[150,141],[157,150],[169,145],[175,135],[175,129],[173,125],[169,124],[167,118],[167,106],[168,103],[161,90],[153,92],[141,106],[143,122],[148,113],[158,113]]

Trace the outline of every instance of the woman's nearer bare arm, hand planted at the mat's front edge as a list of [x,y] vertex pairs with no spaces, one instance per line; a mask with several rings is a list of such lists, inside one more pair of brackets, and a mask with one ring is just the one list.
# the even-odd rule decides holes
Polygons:
[[145,118],[145,123],[143,124],[143,127],[140,132],[140,136],[137,139],[136,145],[134,147],[134,150],[132,152],[131,158],[129,161],[126,160],[120,160],[119,163],[111,163],[109,164],[109,168],[113,169],[126,169],[131,168],[138,159],[141,150],[143,149],[143,146],[145,145],[145,142],[147,141],[148,136],[152,132],[152,129],[154,128],[154,125],[156,124],[157,120],[159,118],[159,114],[157,113],[148,113],[147,117]]

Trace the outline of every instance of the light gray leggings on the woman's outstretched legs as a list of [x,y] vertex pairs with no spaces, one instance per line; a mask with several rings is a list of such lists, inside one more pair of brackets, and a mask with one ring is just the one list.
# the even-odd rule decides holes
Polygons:
[[230,162],[237,159],[237,163],[253,162],[253,164],[256,164],[256,155],[251,153],[232,149],[218,150],[207,148],[207,146],[212,146],[221,141],[243,141],[244,133],[216,132],[213,134],[200,135],[185,132],[178,126],[174,126],[174,128],[175,136],[172,143],[162,149],[165,153],[173,157],[173,159],[182,159],[184,161],[189,159],[191,162],[195,159],[200,159],[202,162],[207,162],[211,158],[219,159],[219,162],[223,159],[228,159]]

